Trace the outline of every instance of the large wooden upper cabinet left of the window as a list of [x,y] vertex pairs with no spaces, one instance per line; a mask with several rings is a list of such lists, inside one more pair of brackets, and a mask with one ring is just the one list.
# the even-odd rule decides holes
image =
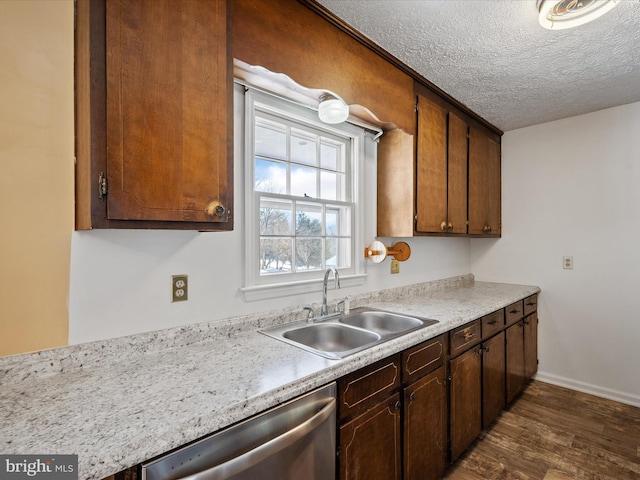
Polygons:
[[233,228],[226,0],[78,2],[76,227]]

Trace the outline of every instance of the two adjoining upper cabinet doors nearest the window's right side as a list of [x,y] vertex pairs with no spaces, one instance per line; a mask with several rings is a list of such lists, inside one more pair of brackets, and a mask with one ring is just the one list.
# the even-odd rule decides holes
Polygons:
[[467,233],[467,125],[418,95],[416,225],[421,233]]

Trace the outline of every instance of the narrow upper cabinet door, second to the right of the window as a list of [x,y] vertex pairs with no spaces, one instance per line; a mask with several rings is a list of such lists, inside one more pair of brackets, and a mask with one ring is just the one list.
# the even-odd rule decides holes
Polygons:
[[449,112],[447,232],[467,233],[467,124]]

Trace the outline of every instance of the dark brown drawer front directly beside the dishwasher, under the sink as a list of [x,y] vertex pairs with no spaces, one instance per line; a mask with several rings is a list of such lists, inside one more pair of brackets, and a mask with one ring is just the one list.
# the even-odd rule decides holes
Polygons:
[[400,354],[350,373],[338,380],[340,418],[383,400],[400,386]]

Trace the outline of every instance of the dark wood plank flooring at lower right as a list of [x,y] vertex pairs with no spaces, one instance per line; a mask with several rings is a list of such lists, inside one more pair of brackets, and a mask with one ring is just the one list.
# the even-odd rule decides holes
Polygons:
[[640,480],[640,408],[532,381],[448,480]]

